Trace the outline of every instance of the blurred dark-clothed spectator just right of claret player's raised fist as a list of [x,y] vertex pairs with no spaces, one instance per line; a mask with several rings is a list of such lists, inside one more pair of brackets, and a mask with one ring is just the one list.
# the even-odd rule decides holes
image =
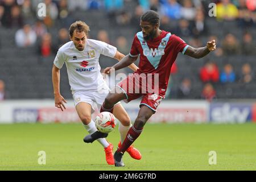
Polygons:
[[233,34],[226,35],[222,42],[222,49],[225,55],[239,54],[240,47],[237,38]]

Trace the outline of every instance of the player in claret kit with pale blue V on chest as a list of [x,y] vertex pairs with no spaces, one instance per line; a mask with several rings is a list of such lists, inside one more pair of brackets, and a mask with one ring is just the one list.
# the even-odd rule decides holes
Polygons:
[[[140,23],[142,31],[134,36],[129,55],[123,57],[113,67],[108,67],[104,70],[104,73],[109,74],[114,70],[125,68],[134,63],[140,56],[139,69],[133,75],[129,75],[125,80],[119,82],[115,86],[115,91],[118,92],[110,92],[101,106],[101,112],[113,112],[115,103],[121,100],[129,102],[142,97],[138,116],[122,145],[115,151],[114,160],[117,167],[125,166],[122,161],[123,153],[139,137],[143,126],[151,115],[156,112],[160,101],[164,99],[171,67],[176,60],[177,54],[181,52],[184,55],[199,59],[216,49],[215,40],[208,42],[207,46],[201,48],[188,46],[179,36],[160,30],[159,22],[159,15],[155,11],[150,10],[144,13],[141,16]],[[143,79],[140,80],[143,77],[146,77],[147,82],[151,82],[151,85],[144,84],[146,87],[143,86]],[[155,77],[158,77],[158,79],[155,79]],[[154,92],[151,92],[150,87]],[[139,89],[140,93],[137,93],[136,89]]]

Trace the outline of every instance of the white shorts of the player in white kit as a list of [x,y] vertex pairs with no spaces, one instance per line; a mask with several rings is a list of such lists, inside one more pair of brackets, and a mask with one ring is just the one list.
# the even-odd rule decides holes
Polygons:
[[[103,86],[100,92],[98,90],[90,90],[90,91],[82,91],[77,90],[73,91],[73,100],[75,106],[79,104],[80,102],[86,102],[92,106],[92,113],[94,111],[100,112],[101,105],[105,101],[106,96],[108,96],[110,92],[110,89],[108,86]],[[118,102],[117,104],[121,104],[121,102]]]

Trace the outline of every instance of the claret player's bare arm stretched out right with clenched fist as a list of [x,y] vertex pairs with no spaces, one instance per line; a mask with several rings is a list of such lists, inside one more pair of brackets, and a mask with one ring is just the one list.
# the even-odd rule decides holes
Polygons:
[[194,48],[189,46],[185,51],[185,55],[199,59],[201,57],[208,55],[210,51],[214,51],[215,49],[216,49],[216,43],[215,43],[215,40],[212,40],[210,42],[207,42],[207,46],[205,47]]

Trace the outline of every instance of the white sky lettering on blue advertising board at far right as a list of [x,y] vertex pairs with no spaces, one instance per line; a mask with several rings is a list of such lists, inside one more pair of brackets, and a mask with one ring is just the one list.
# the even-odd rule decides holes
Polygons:
[[244,123],[251,120],[249,104],[211,104],[210,121],[217,123]]

